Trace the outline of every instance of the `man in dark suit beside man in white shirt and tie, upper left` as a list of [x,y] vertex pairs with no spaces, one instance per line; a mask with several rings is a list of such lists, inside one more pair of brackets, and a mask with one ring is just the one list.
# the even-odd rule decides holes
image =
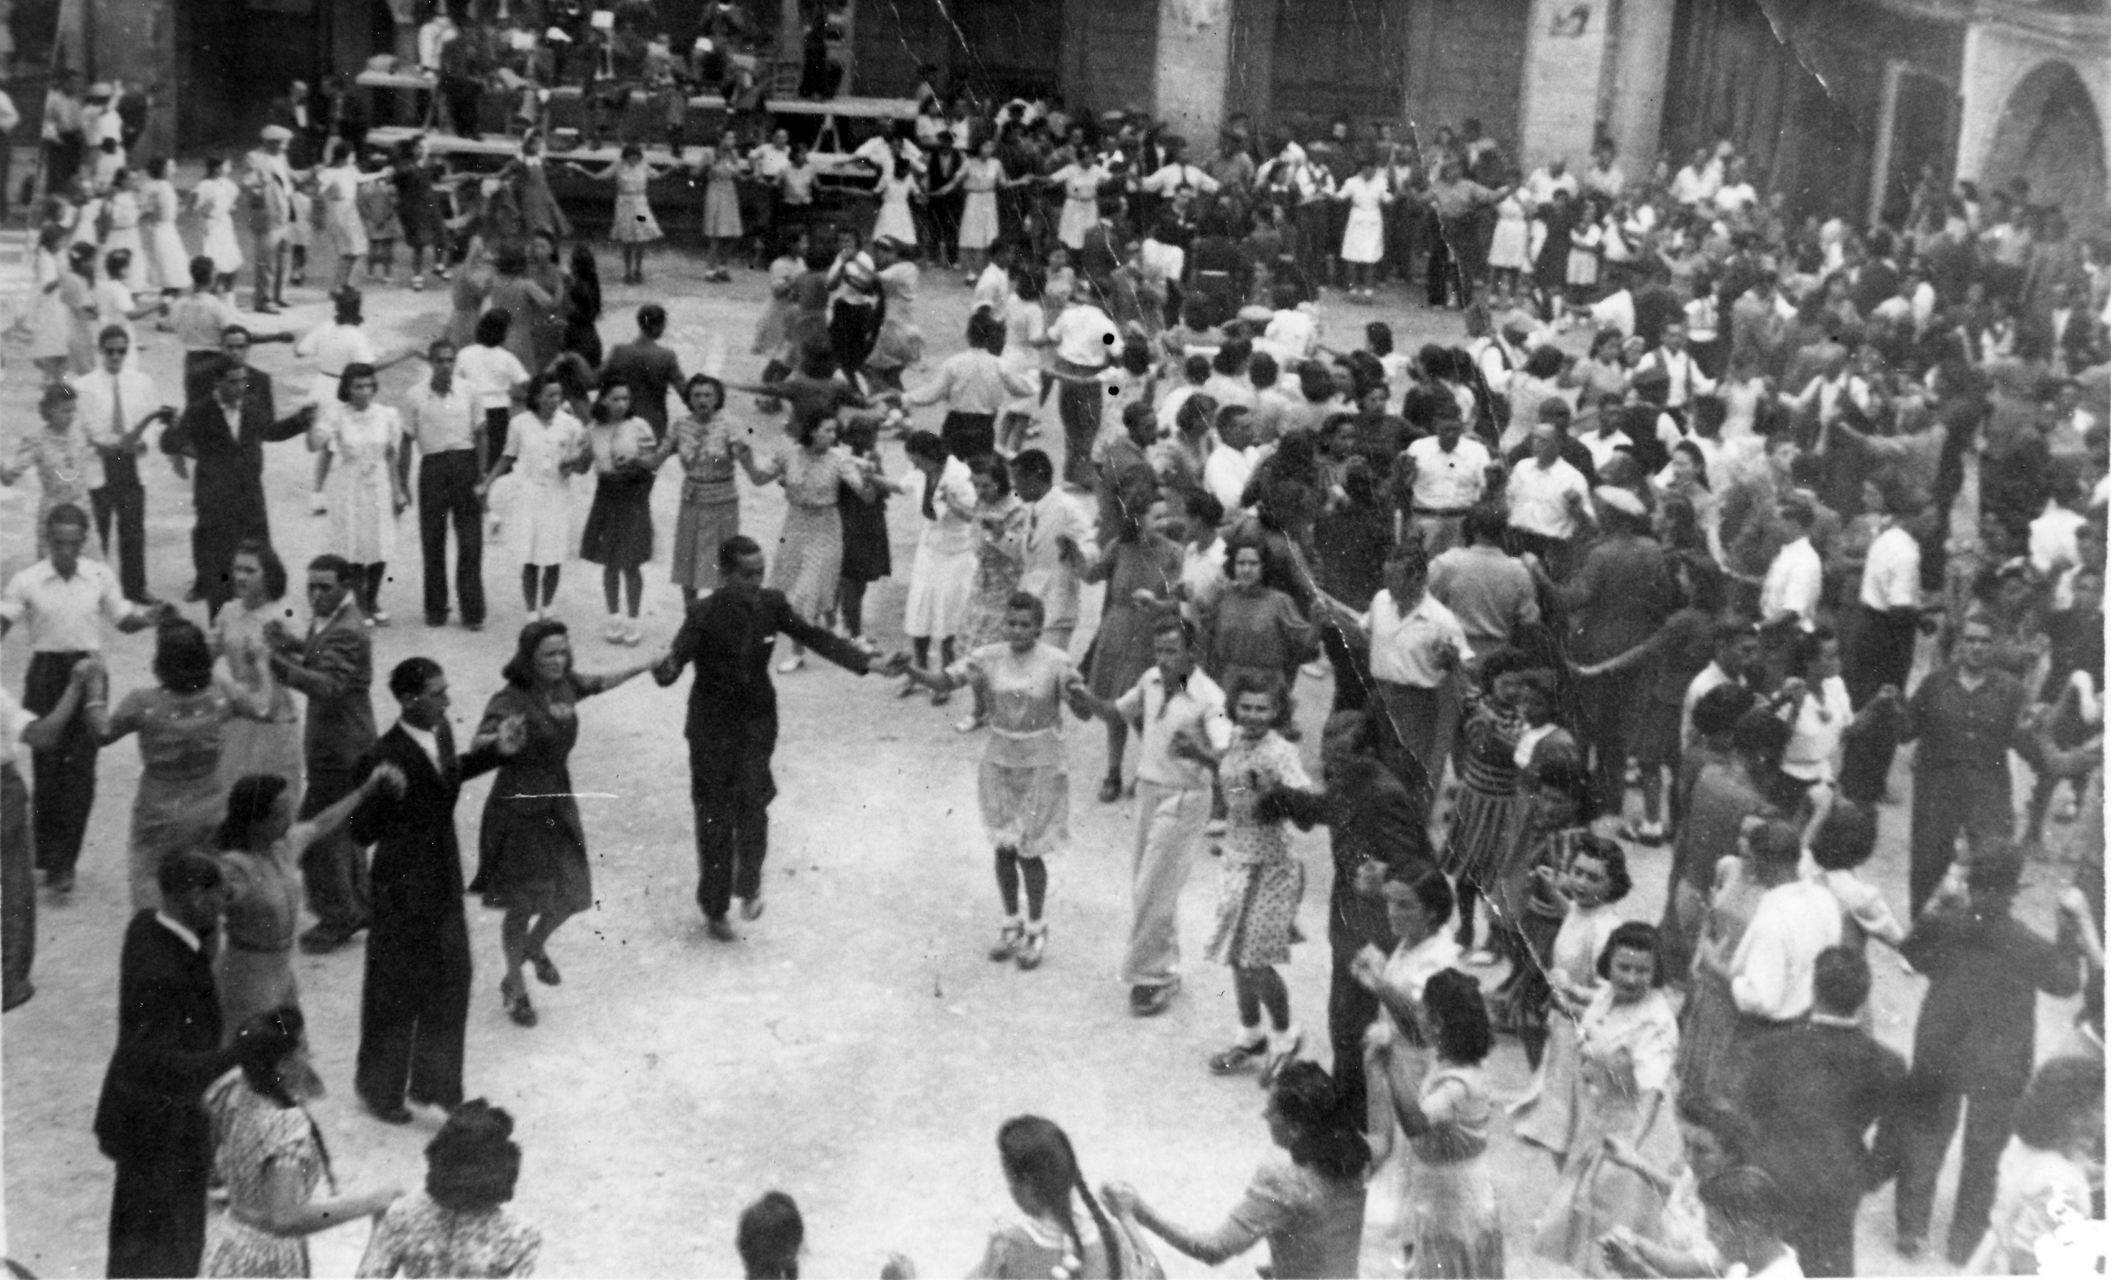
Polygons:
[[177,475],[188,473],[190,463],[198,465],[190,490],[196,507],[190,526],[192,591],[213,613],[234,596],[228,581],[234,547],[247,539],[270,541],[264,446],[293,439],[315,422],[315,406],[302,406],[283,420],[272,416],[270,378],[243,363],[249,355],[247,330],[228,327],[222,353],[211,395],[192,399],[160,437],[160,452],[169,454]]

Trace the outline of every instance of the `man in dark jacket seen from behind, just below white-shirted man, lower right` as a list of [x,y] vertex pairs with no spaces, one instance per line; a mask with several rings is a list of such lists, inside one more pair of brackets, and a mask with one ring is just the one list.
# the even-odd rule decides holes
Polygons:
[[[1853,1276],[1853,1219],[1891,1179],[1906,1060],[1856,1024],[1868,999],[1868,961],[1847,946],[1818,955],[1809,1020],[1752,1046],[1744,1113],[1758,1132],[1752,1164],[1784,1196],[1784,1238],[1805,1276]],[[1877,1149],[1868,1145],[1877,1128]]]

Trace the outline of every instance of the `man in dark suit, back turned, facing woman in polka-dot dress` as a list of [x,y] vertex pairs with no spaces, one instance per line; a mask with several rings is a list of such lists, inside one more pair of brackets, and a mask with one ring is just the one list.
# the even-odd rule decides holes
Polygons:
[[1378,756],[1381,724],[1364,712],[1334,712],[1326,722],[1319,765],[1324,796],[1281,790],[1269,809],[1300,828],[1326,824],[1332,832],[1334,891],[1328,900],[1326,934],[1334,957],[1328,984],[1326,1022],[1334,1046],[1334,1096],[1343,1115],[1364,1111],[1364,1033],[1378,1016],[1378,997],[1349,974],[1349,961],[1366,946],[1393,950],[1393,929],[1385,921],[1381,887],[1387,872],[1410,864],[1435,866],[1429,847],[1429,813]]

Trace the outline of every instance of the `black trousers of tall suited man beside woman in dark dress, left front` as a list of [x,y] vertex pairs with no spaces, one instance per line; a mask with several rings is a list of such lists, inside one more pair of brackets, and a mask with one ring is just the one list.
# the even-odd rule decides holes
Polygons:
[[367,982],[359,997],[359,1067],[353,1088],[378,1111],[403,1103],[462,1103],[462,1037],[469,1027],[469,921],[374,912]]

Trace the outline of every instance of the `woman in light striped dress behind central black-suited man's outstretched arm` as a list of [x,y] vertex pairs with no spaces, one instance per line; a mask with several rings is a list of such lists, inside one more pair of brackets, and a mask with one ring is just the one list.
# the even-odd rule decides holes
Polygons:
[[[735,441],[735,456],[758,486],[785,486],[785,526],[777,537],[777,562],[771,585],[806,621],[821,623],[836,606],[836,579],[842,577],[842,515],[836,513],[836,490],[851,488],[872,494],[872,475],[849,450],[836,448],[836,414],[815,414],[794,425],[796,448],[787,448],[764,465],[756,465],[752,446]],[[792,655],[777,670],[792,674],[806,655],[792,644]]]

